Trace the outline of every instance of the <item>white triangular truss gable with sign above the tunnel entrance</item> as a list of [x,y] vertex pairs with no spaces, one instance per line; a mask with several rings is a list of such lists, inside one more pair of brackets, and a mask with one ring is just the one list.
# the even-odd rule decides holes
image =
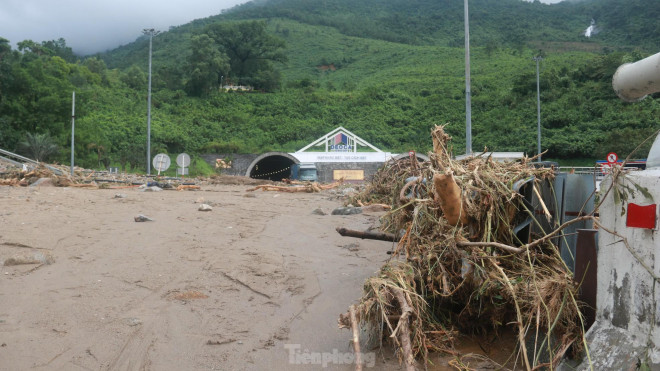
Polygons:
[[341,126],[291,155],[300,162],[385,162],[392,158],[391,153]]

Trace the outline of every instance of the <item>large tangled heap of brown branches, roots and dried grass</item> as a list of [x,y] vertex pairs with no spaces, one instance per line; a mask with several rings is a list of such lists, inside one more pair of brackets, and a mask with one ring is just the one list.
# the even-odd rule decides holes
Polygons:
[[460,359],[459,334],[511,328],[516,364],[554,368],[582,346],[577,286],[551,242],[557,231],[528,240],[514,233],[520,215],[534,217],[514,184],[533,177],[538,187],[554,170],[534,167],[534,159],[453,160],[443,128],[432,132],[430,162],[388,163],[349,201],[392,205],[382,229],[398,244],[339,325],[377,329],[373,335],[392,339],[409,370],[430,351]]

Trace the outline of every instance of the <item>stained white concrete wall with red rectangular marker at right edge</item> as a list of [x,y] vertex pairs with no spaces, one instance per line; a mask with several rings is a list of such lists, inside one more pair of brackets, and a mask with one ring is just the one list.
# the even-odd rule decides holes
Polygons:
[[[653,196],[648,199],[632,183],[645,187]],[[611,191],[600,208],[600,220],[607,229],[625,237],[630,248],[656,276],[660,276],[660,233],[657,230],[626,226],[628,203],[649,205],[660,203],[660,170],[631,172],[619,179],[619,189],[628,200],[615,203]],[[607,177],[604,191],[611,184]],[[623,208],[623,209],[622,209]],[[638,259],[621,242],[621,238],[598,233],[598,299],[597,326],[612,326],[627,331],[632,347],[648,347],[650,361],[660,364],[660,287]]]

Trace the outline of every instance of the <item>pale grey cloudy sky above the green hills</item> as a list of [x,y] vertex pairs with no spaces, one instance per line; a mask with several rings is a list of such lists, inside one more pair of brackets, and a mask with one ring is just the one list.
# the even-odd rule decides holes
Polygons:
[[247,1],[0,0],[0,37],[14,48],[23,40],[64,38],[75,53],[86,55],[135,41],[144,28],[167,31]]

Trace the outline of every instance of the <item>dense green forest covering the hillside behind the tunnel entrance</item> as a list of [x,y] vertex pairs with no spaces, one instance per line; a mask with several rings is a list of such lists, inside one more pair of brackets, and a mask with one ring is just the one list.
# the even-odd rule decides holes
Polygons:
[[[658,129],[660,96],[621,102],[611,78],[660,51],[659,18],[654,0],[471,0],[474,150],[535,154],[540,55],[546,159],[630,153]],[[153,38],[152,154],[295,151],[339,125],[427,151],[445,123],[460,154],[463,27],[453,0],[261,0],[172,27]],[[92,56],[1,36],[0,148],[66,163],[75,91],[77,164],[144,171],[146,36]]]

